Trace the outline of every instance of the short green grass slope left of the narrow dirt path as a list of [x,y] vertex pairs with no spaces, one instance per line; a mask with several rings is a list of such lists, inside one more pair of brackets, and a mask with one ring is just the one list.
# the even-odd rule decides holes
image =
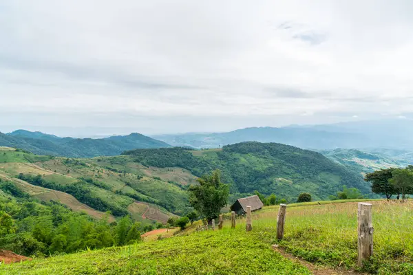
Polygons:
[[1,274],[310,274],[271,250],[256,233],[196,232],[123,248],[0,266]]

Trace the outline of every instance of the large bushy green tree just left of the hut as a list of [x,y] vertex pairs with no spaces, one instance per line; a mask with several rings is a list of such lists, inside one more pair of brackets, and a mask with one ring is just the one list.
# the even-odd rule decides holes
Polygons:
[[220,214],[229,197],[229,186],[222,184],[220,170],[197,179],[199,185],[189,186],[189,202],[208,223]]

